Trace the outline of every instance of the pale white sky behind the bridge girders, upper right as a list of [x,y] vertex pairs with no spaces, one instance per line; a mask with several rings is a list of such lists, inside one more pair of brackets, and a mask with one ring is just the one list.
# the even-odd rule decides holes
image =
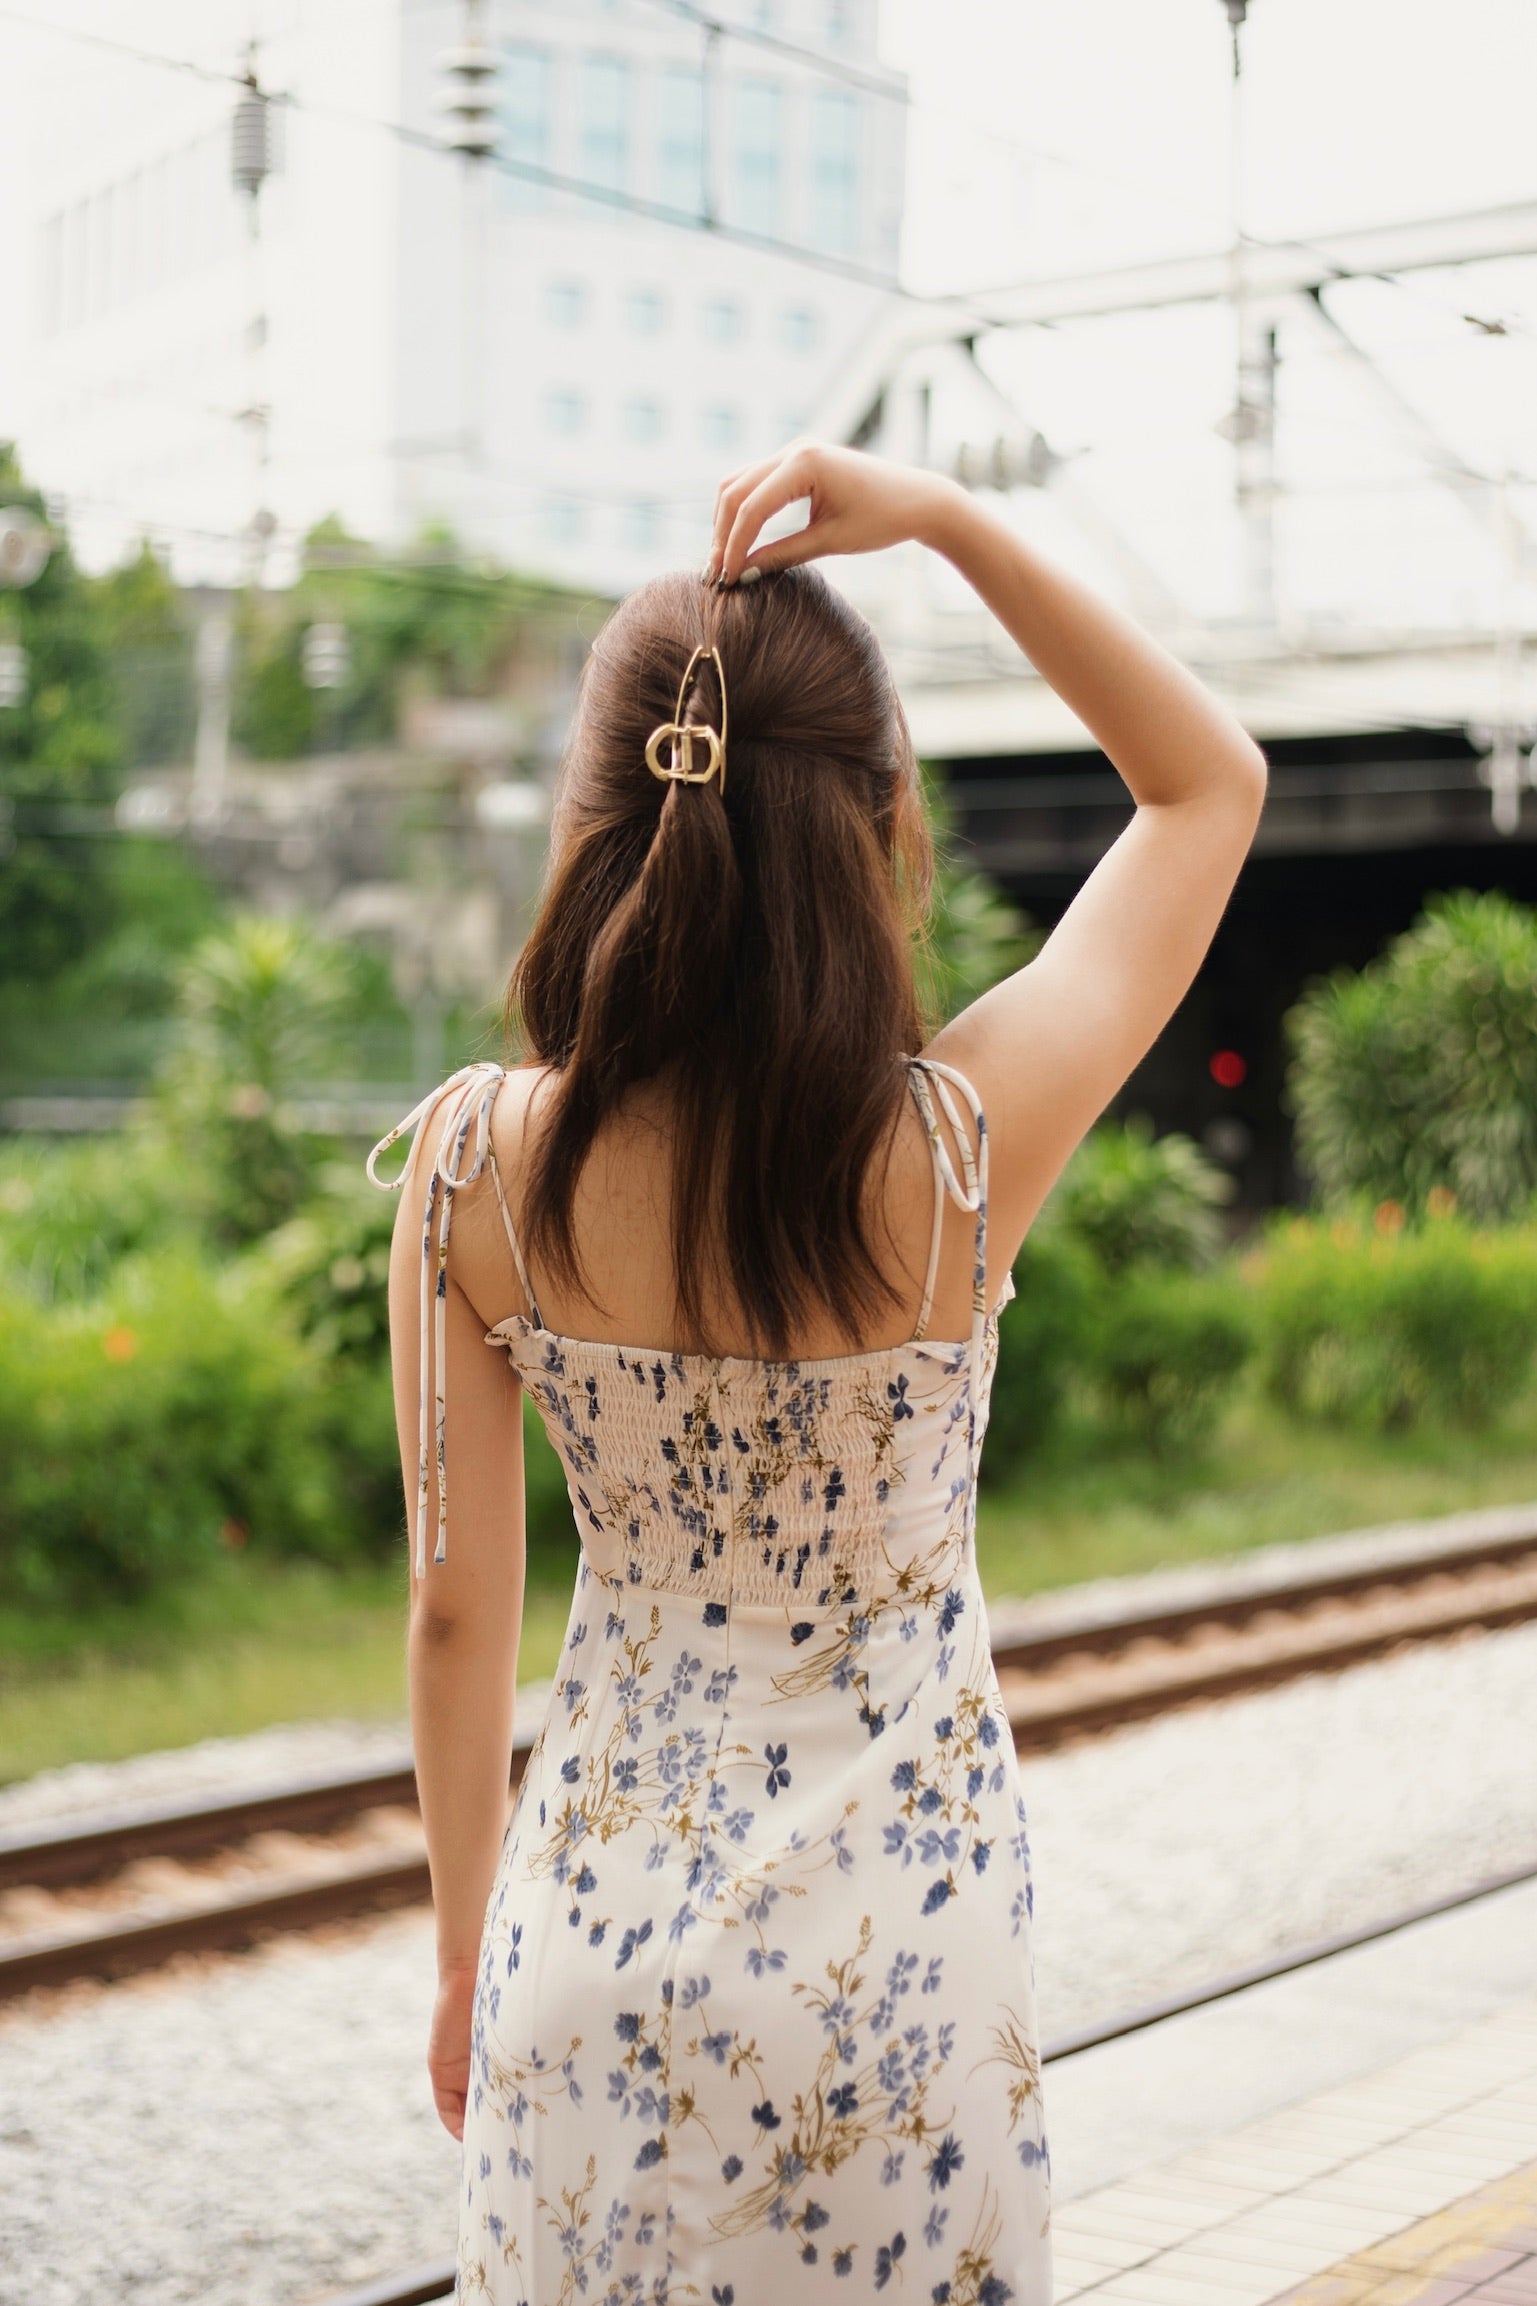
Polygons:
[[[385,0],[293,0],[355,9]],[[88,0],[21,14],[83,21]],[[194,18],[196,21],[196,18]],[[122,0],[122,25],[131,9]],[[0,0],[0,436],[25,383],[28,85],[58,39]],[[903,277],[922,295],[1224,247],[1233,231],[1231,44],[1221,0],[883,0],[913,90]],[[1251,0],[1242,219],[1307,238],[1537,201],[1530,0]],[[1512,521],[1537,535],[1537,256],[1348,284],[1337,311],[1383,378],[1318,332],[1281,341],[1286,581],[1318,618],[1383,625],[1509,613]],[[1463,316],[1505,325],[1472,327]],[[1233,600],[1231,321],[1214,307],[986,346],[1081,505],[1108,514],[1196,613]],[[1514,473],[1505,514],[1433,477]],[[1062,503],[1072,493],[1062,491]],[[1505,526],[1502,526],[1505,521]],[[1095,563],[1083,521],[1046,528]],[[1088,523],[1092,526],[1092,523]],[[1505,542],[1500,542],[1505,540]],[[1099,556],[1104,560],[1104,553]],[[1525,613],[1525,611],[1523,611]]]

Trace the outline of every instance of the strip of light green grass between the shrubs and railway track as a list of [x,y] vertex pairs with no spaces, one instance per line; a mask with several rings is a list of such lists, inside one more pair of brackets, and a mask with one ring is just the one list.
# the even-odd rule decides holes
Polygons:
[[[1537,1499],[1537,1397],[1486,1432],[1302,1427],[1254,1393],[1207,1450],[1081,1448],[982,1492],[989,1593],[1198,1561],[1373,1522]],[[518,1672],[555,1667],[558,1563],[530,1580]],[[88,1619],[0,1617],[0,1783],[270,1723],[406,1711],[403,1563],[334,1570],[233,1557],[196,1587]]]

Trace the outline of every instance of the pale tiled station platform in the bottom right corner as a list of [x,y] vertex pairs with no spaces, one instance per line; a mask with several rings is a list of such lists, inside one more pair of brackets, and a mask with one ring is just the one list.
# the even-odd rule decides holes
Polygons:
[[1065,2059],[1046,2110],[1058,2306],[1537,2306],[1537,1884]]

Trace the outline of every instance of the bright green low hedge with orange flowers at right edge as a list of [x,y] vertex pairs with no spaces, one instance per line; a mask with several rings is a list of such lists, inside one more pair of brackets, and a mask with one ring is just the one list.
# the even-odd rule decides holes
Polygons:
[[1251,1261],[1270,1388],[1341,1425],[1484,1425],[1532,1377],[1537,1234],[1399,1222],[1295,1218],[1270,1236]]

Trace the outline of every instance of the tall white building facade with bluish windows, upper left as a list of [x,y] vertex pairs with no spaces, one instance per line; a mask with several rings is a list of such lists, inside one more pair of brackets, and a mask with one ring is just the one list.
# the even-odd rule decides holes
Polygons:
[[[906,148],[876,0],[712,14],[486,0],[482,164],[436,148],[461,0],[145,0],[134,44],[198,71],[60,44],[21,454],[85,556],[150,533],[182,574],[281,579],[325,514],[597,590],[703,556],[721,473],[813,424],[889,314]],[[251,28],[290,99],[256,201],[221,78]]]

